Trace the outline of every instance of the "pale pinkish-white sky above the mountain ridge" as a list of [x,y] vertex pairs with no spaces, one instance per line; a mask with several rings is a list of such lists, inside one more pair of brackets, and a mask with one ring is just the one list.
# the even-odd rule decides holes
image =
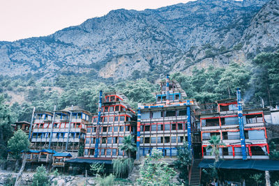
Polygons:
[[119,8],[144,10],[190,0],[0,0],[0,41],[47,36]]

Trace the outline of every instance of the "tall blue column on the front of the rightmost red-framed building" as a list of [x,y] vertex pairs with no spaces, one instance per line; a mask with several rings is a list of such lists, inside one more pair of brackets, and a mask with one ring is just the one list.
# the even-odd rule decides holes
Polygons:
[[241,91],[237,88],[236,91],[237,96],[237,115],[239,116],[239,133],[240,133],[240,141],[241,141],[241,152],[242,152],[242,159],[246,160],[246,143],[245,143],[245,134],[244,134],[244,124],[243,124],[243,110],[242,110],[242,102],[241,102]]

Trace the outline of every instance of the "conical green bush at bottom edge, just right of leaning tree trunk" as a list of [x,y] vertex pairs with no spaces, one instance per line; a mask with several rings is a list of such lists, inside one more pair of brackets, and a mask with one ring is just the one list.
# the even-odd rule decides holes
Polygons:
[[32,186],[48,186],[50,185],[50,180],[47,176],[47,171],[45,166],[38,166],[36,169],[36,173],[33,176]]

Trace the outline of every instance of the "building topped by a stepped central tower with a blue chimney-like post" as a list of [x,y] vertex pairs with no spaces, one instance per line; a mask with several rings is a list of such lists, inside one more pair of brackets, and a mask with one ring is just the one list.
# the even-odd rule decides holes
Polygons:
[[137,116],[137,158],[162,150],[164,157],[175,157],[177,147],[188,141],[192,149],[192,131],[195,130],[195,100],[183,100],[186,92],[176,81],[160,82],[156,102],[139,104]]

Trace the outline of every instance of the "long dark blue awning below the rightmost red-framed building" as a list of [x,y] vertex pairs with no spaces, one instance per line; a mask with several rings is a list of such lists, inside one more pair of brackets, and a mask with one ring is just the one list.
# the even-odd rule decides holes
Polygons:
[[[200,168],[214,166],[214,160],[202,160]],[[218,169],[256,169],[259,171],[279,171],[278,160],[219,160],[216,162]]]

